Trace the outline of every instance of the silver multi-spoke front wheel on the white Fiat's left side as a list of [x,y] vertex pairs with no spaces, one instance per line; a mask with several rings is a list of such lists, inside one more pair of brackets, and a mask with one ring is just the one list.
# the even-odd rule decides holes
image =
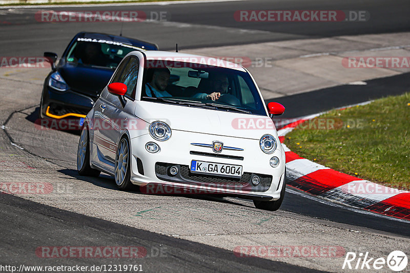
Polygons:
[[130,190],[133,188],[131,183],[131,149],[130,143],[126,137],[119,141],[117,152],[115,154],[114,178],[117,187],[121,190]]

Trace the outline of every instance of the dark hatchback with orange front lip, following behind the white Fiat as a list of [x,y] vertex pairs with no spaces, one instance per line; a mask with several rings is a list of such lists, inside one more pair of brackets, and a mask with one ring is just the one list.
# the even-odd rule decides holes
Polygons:
[[39,118],[84,118],[129,52],[158,50],[154,43],[103,33],[80,32],[63,56],[45,52],[52,63],[40,101]]

